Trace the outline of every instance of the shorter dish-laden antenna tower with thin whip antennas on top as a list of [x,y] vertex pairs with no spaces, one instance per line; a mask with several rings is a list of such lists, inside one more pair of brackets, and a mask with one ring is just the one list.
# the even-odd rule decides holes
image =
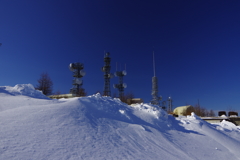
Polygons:
[[123,77],[126,75],[127,75],[126,65],[125,65],[125,70],[115,72],[115,76],[118,77],[118,84],[114,84],[113,88],[118,89],[119,98],[122,98],[124,96],[124,88],[127,88],[127,84],[123,83]]

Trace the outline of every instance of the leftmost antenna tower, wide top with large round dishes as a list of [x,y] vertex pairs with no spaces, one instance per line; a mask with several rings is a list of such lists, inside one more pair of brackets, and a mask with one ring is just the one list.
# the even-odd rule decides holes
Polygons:
[[83,70],[84,65],[79,62],[70,63],[69,69],[70,71],[73,72],[73,77],[74,77],[72,81],[73,87],[70,89],[70,93],[78,96],[80,92],[80,88],[83,85],[82,77],[86,75],[86,72]]

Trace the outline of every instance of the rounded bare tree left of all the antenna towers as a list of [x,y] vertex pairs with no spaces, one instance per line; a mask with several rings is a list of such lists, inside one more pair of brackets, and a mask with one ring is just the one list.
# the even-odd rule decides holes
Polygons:
[[42,73],[38,79],[36,89],[42,91],[44,95],[52,94],[53,82],[48,73]]

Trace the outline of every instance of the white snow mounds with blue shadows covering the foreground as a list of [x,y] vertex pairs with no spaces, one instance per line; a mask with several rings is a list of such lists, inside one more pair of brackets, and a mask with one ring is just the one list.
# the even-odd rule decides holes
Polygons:
[[240,127],[178,118],[95,94],[51,100],[31,84],[0,87],[0,159],[240,159]]

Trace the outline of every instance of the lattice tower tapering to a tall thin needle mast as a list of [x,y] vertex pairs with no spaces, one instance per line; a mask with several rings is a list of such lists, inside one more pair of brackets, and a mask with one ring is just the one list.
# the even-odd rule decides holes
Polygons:
[[152,100],[151,104],[160,106],[159,100],[162,98],[158,96],[158,80],[156,77],[156,69],[155,69],[155,59],[154,59],[154,51],[153,51],[153,77],[152,77]]

